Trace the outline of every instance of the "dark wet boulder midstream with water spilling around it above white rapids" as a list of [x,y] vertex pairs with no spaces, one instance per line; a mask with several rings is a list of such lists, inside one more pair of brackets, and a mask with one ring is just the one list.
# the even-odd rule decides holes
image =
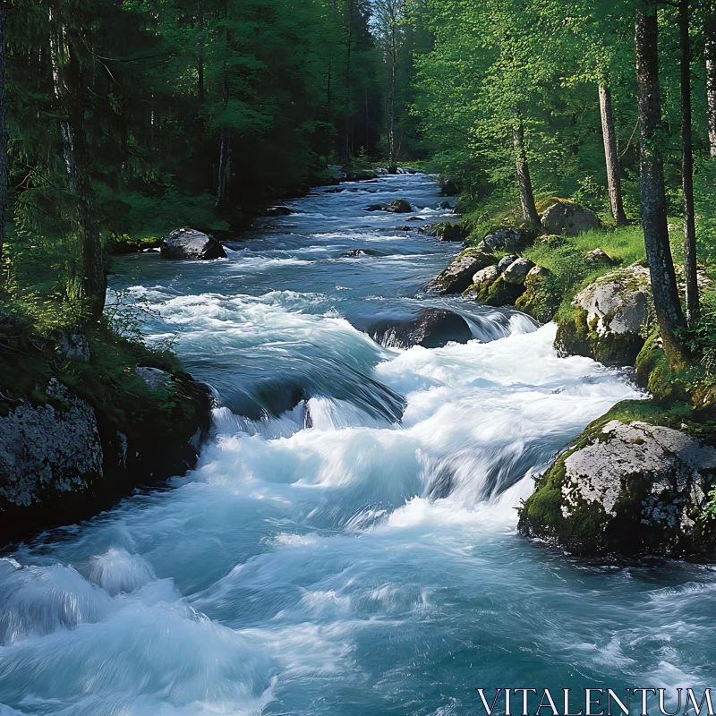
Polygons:
[[368,334],[389,348],[441,348],[448,343],[467,343],[473,333],[467,321],[453,311],[424,308],[411,320],[383,320],[373,324]]

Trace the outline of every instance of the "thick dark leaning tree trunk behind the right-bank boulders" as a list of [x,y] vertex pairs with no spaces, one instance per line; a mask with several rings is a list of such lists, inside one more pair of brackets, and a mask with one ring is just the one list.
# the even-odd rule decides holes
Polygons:
[[664,352],[673,369],[684,365],[683,348],[676,330],[684,315],[678,300],[677,279],[669,246],[664,163],[661,143],[661,95],[659,89],[659,24],[655,0],[644,0],[636,11],[636,81],[639,101],[642,221],[646,258],[652,277],[654,309]]

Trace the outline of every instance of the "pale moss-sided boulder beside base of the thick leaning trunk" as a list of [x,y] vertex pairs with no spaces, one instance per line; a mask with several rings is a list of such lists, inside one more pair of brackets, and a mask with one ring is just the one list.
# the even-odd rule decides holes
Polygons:
[[638,264],[599,277],[576,294],[558,325],[561,354],[608,365],[634,365],[654,322],[649,269]]

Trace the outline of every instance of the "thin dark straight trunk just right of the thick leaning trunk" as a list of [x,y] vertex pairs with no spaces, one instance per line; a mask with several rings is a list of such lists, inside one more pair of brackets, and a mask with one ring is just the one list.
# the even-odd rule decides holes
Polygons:
[[689,37],[690,0],[678,7],[681,45],[681,151],[682,188],[684,191],[684,268],[686,269],[686,322],[694,326],[699,317],[699,287],[696,276],[696,225],[694,215],[694,155],[691,137],[691,38]]

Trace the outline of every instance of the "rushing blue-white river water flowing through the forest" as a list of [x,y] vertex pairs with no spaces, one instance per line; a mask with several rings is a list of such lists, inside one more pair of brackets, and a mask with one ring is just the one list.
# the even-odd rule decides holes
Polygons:
[[[420,295],[456,245],[364,209],[435,220],[429,177],[345,187],[227,260],[116,261],[147,332],[181,331],[215,388],[215,439],[172,489],[0,560],[2,716],[447,716],[483,713],[478,686],[713,686],[711,568],[516,533],[531,475],[638,391],[559,359],[551,325]],[[398,351],[355,328],[425,305],[476,339]]]

